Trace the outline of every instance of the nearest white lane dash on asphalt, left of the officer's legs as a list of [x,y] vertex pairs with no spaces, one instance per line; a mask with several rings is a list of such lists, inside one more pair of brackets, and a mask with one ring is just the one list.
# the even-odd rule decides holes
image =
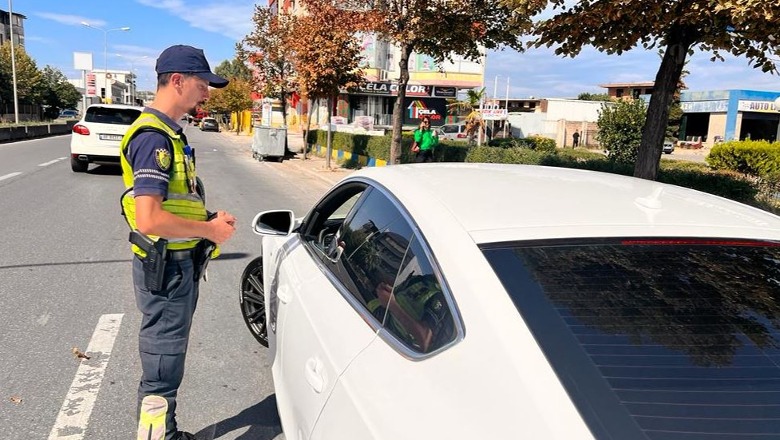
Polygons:
[[102,315],[84,353],[91,359],[81,359],[76,377],[49,434],[49,440],[80,440],[84,438],[89,416],[95,406],[100,384],[111,358],[111,349],[124,314]]

